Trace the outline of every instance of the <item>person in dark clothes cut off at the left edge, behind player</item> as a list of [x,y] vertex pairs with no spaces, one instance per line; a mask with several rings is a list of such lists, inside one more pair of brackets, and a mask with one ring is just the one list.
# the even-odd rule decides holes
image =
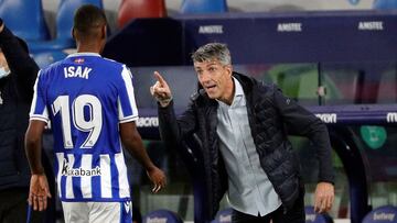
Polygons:
[[31,174],[23,147],[37,71],[26,43],[0,19],[0,222],[42,222],[45,215],[28,214]]

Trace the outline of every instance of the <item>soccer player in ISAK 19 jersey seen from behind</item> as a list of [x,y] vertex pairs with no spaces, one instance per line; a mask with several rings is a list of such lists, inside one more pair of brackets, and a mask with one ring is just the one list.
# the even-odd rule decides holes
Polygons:
[[106,24],[100,9],[81,7],[73,26],[77,53],[40,70],[34,86],[25,136],[32,171],[29,202],[44,210],[51,197],[40,160],[42,133],[51,121],[65,222],[132,222],[121,144],[146,168],[153,192],[165,186],[163,171],[150,160],[137,131],[129,69],[99,55]]

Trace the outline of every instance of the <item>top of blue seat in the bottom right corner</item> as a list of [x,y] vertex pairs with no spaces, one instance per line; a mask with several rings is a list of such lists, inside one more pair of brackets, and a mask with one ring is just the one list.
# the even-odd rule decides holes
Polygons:
[[372,210],[364,216],[363,223],[397,223],[397,207],[384,205]]

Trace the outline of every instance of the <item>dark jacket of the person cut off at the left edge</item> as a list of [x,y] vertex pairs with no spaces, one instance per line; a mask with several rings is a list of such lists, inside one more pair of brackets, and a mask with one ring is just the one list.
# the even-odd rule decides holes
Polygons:
[[0,33],[0,47],[11,70],[0,79],[0,190],[3,190],[29,187],[30,168],[23,143],[39,67],[7,27]]

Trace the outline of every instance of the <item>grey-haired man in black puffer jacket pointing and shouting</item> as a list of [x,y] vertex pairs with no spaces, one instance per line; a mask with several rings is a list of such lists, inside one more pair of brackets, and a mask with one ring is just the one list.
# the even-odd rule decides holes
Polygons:
[[276,86],[233,71],[225,44],[201,46],[192,59],[198,90],[178,119],[171,89],[159,73],[150,91],[159,102],[160,135],[168,145],[176,147],[192,134],[200,140],[210,218],[227,192],[234,223],[305,221],[300,164],[288,134],[314,144],[320,161],[314,207],[329,211],[334,172],[326,126]]

